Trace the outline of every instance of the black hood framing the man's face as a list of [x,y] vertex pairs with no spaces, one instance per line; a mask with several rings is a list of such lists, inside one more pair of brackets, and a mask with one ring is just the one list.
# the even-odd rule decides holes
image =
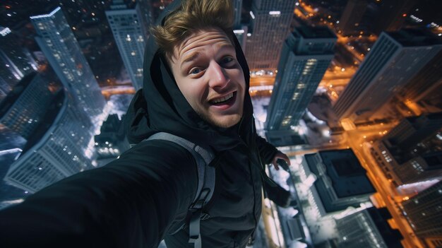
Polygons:
[[[158,18],[157,25],[179,4],[181,1],[177,0],[169,4]],[[158,52],[155,38],[150,35],[145,48],[143,88],[133,97],[125,119],[129,143],[139,143],[157,132],[167,132],[217,151],[237,146],[241,140],[248,146],[252,144],[251,137],[255,129],[249,95],[249,66],[233,30],[231,32],[237,59],[246,79],[241,122],[231,128],[222,129],[201,119],[179,90],[165,57]]]

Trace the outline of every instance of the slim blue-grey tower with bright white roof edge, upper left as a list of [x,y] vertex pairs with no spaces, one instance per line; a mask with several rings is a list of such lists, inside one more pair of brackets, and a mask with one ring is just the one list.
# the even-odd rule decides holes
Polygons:
[[102,114],[106,102],[61,8],[30,19],[37,32],[35,40],[44,56],[64,87],[95,123],[94,117]]

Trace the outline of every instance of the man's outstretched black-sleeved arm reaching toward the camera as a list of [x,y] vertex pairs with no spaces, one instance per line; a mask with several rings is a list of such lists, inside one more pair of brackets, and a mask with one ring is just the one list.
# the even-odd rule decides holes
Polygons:
[[191,154],[165,142],[136,146],[0,211],[1,247],[157,247],[185,218],[197,184]]

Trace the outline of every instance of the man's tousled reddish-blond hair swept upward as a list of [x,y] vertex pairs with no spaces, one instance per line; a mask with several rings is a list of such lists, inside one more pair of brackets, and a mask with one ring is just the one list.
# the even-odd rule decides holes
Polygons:
[[151,28],[155,42],[165,57],[171,61],[174,47],[184,42],[196,30],[220,28],[232,40],[234,21],[232,0],[183,0],[172,11],[163,25]]

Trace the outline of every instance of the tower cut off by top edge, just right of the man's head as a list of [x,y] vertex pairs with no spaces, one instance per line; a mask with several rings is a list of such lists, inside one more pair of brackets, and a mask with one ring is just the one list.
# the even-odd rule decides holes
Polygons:
[[294,0],[253,0],[246,58],[251,71],[275,70],[289,35]]

